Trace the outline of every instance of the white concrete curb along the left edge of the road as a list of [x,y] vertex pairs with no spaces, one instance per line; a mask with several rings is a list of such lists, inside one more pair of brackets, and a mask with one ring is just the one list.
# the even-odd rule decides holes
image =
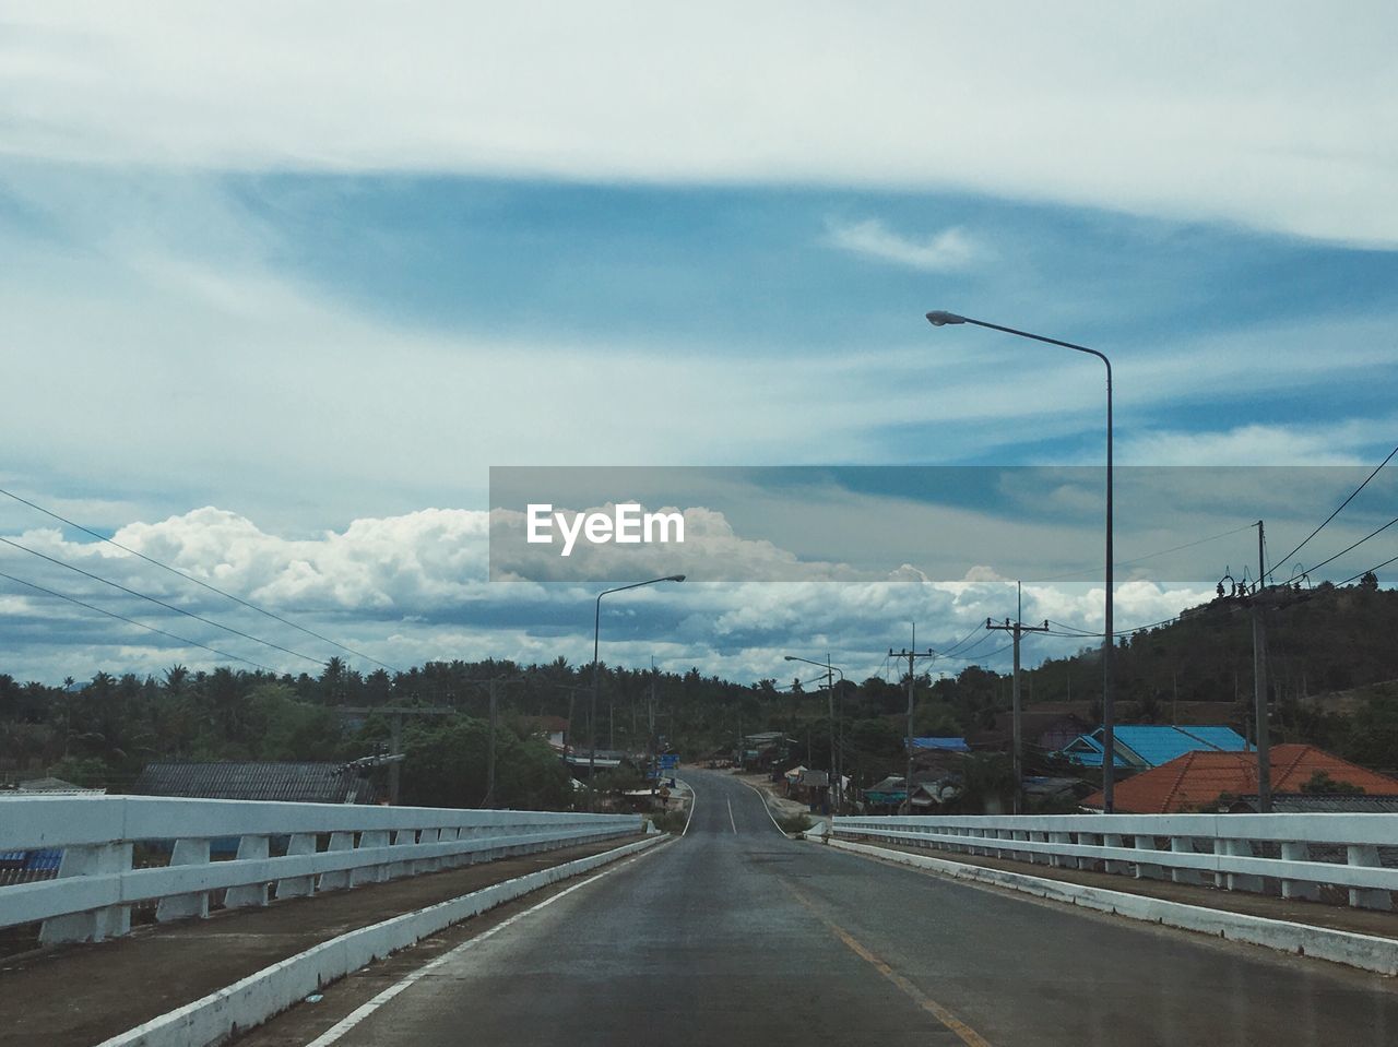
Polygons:
[[492,883],[470,895],[361,927],[263,967],[203,999],[113,1036],[99,1047],[204,1047],[218,1043],[261,1025],[322,985],[358,970],[370,960],[383,959],[461,920],[512,902],[531,890],[636,854],[665,839],[670,839],[668,835],[649,836],[617,850]]

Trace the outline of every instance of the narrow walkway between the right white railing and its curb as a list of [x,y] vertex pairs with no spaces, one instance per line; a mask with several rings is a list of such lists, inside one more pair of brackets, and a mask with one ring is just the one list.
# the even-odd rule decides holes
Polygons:
[[962,854],[958,851],[932,847],[913,847],[910,844],[898,844],[888,840],[854,839],[853,842],[879,847],[881,850],[920,854],[963,865],[979,865],[987,869],[1000,869],[1001,872],[1018,872],[1026,876],[1055,879],[1064,883],[1078,883],[1081,886],[1100,888],[1103,890],[1117,890],[1123,895],[1156,897],[1165,902],[1181,902],[1184,904],[1199,906],[1202,909],[1216,909],[1225,913],[1260,916],[1267,920],[1285,920],[1293,924],[1325,927],[1332,931],[1367,934],[1376,938],[1391,938],[1398,941],[1398,913],[1383,913],[1373,909],[1350,909],[1348,906],[1331,906],[1321,902],[1306,902],[1304,899],[1253,895],[1243,890],[1222,890],[1212,886],[1174,883],[1167,879],[1137,879],[1135,876],[1117,875],[1113,872],[1088,872],[1083,869],[1055,868],[1051,865],[1037,865],[1026,861],[1012,861],[1009,858]]

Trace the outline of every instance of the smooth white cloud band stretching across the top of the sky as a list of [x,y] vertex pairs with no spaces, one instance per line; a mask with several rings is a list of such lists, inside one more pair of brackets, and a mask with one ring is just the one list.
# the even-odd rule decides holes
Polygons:
[[[1398,10],[10,4],[11,157],[969,189],[1398,242]],[[994,60],[986,56],[994,53]]]

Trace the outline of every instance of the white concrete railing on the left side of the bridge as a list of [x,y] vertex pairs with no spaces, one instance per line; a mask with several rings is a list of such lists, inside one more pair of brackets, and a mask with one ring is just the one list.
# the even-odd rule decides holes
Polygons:
[[[157,920],[264,906],[398,876],[642,832],[637,815],[273,804],[158,797],[0,800],[0,853],[60,849],[57,876],[0,886],[0,927],[43,921],[41,941],[126,934]],[[217,858],[224,843],[233,853]]]

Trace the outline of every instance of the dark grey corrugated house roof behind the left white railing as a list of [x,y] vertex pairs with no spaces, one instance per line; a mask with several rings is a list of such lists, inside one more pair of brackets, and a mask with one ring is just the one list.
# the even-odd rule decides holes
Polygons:
[[344,763],[147,763],[134,795],[373,804],[377,790]]

